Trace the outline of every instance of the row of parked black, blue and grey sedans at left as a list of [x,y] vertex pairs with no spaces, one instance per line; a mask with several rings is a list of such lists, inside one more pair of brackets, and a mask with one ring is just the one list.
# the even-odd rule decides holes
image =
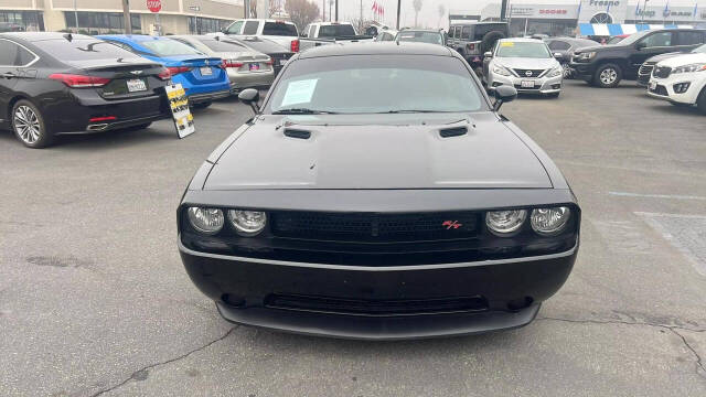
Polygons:
[[269,87],[290,55],[263,39],[1,33],[0,127],[30,148],[63,133],[142,129],[171,117],[170,82],[192,108],[204,108]]

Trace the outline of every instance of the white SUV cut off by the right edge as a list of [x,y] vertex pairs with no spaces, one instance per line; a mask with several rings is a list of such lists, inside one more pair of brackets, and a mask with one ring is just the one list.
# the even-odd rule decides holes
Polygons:
[[706,45],[703,52],[664,60],[652,71],[648,93],[674,105],[696,105],[706,115]]

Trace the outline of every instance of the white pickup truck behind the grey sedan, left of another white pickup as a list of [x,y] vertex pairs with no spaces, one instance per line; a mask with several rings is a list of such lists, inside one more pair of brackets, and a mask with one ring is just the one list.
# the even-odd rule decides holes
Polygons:
[[257,36],[267,39],[288,51],[299,52],[299,31],[289,21],[271,19],[240,19],[224,28],[222,33],[234,36]]

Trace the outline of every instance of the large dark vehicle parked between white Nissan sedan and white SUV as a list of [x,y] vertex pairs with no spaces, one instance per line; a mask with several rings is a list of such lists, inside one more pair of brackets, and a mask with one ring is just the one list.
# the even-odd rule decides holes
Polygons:
[[688,52],[705,42],[706,30],[642,31],[618,44],[577,50],[570,66],[577,78],[598,87],[612,88],[623,78],[637,79],[640,66],[648,58],[670,52]]

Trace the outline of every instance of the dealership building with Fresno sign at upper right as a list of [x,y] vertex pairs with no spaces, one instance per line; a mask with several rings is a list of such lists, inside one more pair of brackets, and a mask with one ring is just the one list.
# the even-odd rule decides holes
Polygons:
[[[651,28],[664,25],[691,25],[706,28],[706,1],[696,7],[689,0],[567,0],[549,4],[510,0],[507,20],[511,34],[588,35],[581,34],[579,25],[605,24],[601,31],[620,32],[620,25],[648,24]],[[480,20],[500,19],[500,2],[490,3],[480,11]],[[588,25],[590,26],[590,25]],[[612,29],[616,26],[616,29]],[[610,30],[608,28],[611,28]],[[638,29],[640,30],[640,29]],[[586,30],[585,30],[586,31]],[[634,32],[634,29],[627,29]]]

